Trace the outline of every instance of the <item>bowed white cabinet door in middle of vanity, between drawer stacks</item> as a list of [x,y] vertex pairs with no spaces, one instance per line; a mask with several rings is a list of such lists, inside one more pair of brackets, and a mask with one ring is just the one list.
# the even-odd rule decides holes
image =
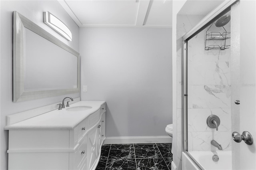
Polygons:
[[100,145],[100,127],[94,127],[87,136],[87,150],[88,150],[88,169],[92,169],[94,166],[98,154],[99,154],[99,145]]

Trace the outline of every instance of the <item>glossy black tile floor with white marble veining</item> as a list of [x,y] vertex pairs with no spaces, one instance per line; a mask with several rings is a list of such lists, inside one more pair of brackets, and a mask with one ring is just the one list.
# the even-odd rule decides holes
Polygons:
[[111,144],[101,149],[96,170],[171,170],[172,144]]

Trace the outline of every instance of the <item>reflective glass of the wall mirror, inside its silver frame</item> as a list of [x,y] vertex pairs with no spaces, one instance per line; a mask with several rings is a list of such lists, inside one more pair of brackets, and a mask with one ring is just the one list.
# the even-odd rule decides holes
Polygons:
[[77,57],[27,28],[24,32],[25,91],[76,88]]

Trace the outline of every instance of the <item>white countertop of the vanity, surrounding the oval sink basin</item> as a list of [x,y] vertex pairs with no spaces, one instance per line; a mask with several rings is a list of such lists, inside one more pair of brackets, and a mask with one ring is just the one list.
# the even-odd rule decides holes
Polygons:
[[[12,125],[6,126],[5,130],[21,130],[21,129],[73,129],[83,119],[94,113],[105,101],[78,101],[62,110],[54,110]],[[66,111],[71,107],[91,106],[91,109],[85,111]]]

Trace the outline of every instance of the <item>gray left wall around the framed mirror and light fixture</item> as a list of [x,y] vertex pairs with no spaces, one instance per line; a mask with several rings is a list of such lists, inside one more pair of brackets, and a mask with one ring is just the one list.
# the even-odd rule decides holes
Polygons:
[[[32,20],[40,27],[44,28],[46,31],[50,32],[56,38],[60,39],[64,43],[68,44],[70,47],[79,51],[79,28],[75,22],[70,18],[58,1],[3,1],[1,0],[1,145],[0,145],[0,156],[1,156],[1,170],[7,169],[8,164],[8,131],[4,130],[6,125],[6,115],[11,115],[13,113],[18,113],[21,111],[26,111],[34,109],[37,107],[42,107],[52,103],[57,103],[62,101],[64,96],[51,97],[47,99],[38,99],[34,101],[26,101],[13,103],[12,102],[12,11],[18,11],[20,14]],[[52,14],[58,16],[72,31],[73,41],[68,42],[66,39],[62,38],[59,34],[54,32],[50,27],[43,23],[43,12],[49,11]],[[80,93],[70,95],[71,97],[80,97]]]

